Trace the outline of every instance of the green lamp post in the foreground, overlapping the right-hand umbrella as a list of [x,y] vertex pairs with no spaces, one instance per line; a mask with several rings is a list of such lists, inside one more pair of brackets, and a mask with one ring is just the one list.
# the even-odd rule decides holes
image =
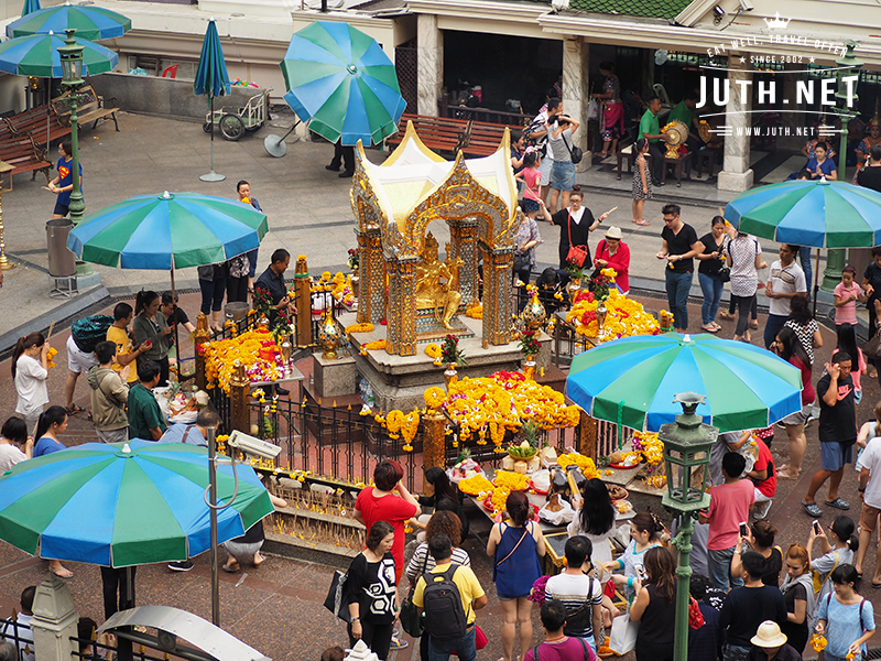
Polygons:
[[[709,452],[719,430],[703,424],[703,418],[695,413],[698,404],[706,403],[703,394],[685,392],[673,398],[682,404],[683,412],[676,422],[661,425],[657,434],[664,443],[664,466],[667,472],[667,492],[662,505],[682,514],[679,532],[673,545],[679,552],[676,567],[676,638],[673,647],[674,661],[688,659],[688,599],[692,582],[692,533],[695,530],[694,517],[698,510],[709,507],[706,492],[709,474]],[[695,486],[697,484],[697,486]]]

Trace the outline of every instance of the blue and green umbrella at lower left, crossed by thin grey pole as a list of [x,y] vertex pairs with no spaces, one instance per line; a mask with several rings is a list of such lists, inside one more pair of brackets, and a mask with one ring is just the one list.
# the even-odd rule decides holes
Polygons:
[[[218,541],[273,511],[249,465],[217,470]],[[124,567],[210,549],[208,452],[184,443],[87,443],[0,477],[0,539],[40,557]],[[235,494],[235,499],[233,499]]]

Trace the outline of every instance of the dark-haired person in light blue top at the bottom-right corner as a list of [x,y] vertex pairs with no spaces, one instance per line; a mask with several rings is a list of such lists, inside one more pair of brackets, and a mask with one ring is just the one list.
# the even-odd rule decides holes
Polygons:
[[866,641],[874,635],[872,603],[857,592],[860,577],[853,565],[844,564],[831,574],[835,593],[819,603],[816,632],[826,637],[826,661],[861,661]]

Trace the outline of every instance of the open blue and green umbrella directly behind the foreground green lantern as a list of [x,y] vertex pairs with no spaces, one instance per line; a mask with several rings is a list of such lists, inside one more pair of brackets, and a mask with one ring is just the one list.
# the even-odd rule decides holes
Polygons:
[[707,398],[697,414],[720,432],[766,427],[802,410],[798,369],[760,347],[715,335],[634,335],[572,361],[566,395],[599,420],[657,432],[681,392]]

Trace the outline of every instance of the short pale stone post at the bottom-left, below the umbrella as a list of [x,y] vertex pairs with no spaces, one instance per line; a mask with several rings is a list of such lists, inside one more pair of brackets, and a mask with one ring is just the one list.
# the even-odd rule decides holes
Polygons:
[[36,586],[33,611],[31,629],[36,661],[70,661],[76,649],[70,638],[76,637],[79,616],[67,584],[55,574],[46,575]]

